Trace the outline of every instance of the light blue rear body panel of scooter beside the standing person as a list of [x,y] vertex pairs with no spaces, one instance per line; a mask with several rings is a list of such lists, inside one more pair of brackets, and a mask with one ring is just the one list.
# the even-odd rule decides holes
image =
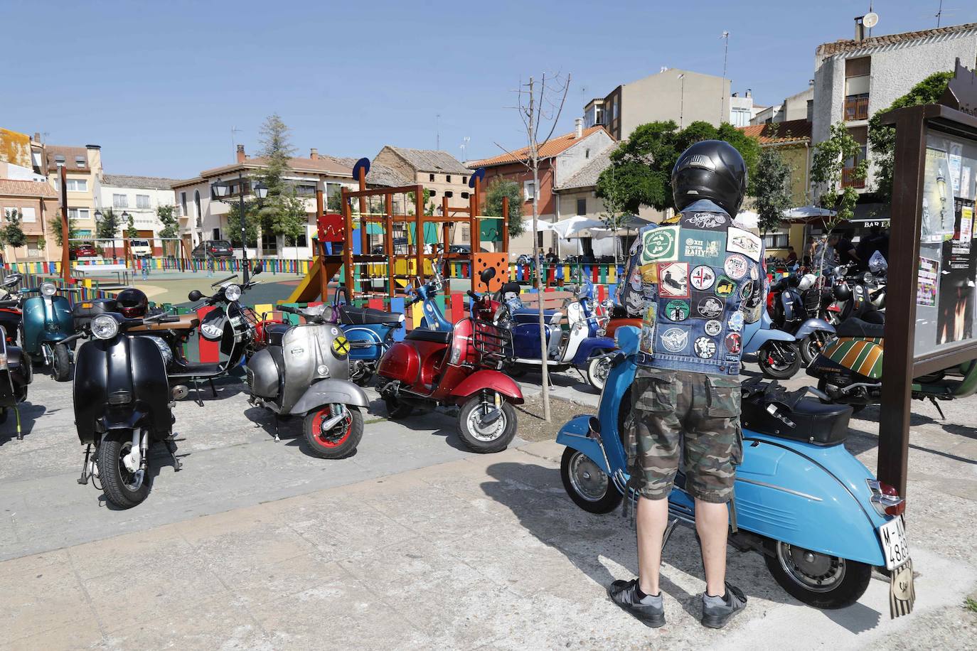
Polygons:
[[884,565],[871,507],[873,476],[844,445],[820,446],[743,430],[736,470],[737,524],[746,531],[840,558]]

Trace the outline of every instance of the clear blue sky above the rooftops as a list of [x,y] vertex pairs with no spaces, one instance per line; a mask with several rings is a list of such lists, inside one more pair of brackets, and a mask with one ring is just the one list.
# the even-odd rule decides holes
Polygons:
[[[873,35],[936,26],[938,0],[875,0]],[[946,0],[943,24],[977,21]],[[748,9],[746,9],[748,7]],[[0,126],[97,143],[106,172],[189,178],[249,152],[277,112],[301,155],[385,143],[467,158],[517,147],[520,77],[573,73],[559,131],[583,103],[662,65],[722,74],[781,102],[818,44],[851,38],[868,0],[731,2],[36,2],[3,0]]]

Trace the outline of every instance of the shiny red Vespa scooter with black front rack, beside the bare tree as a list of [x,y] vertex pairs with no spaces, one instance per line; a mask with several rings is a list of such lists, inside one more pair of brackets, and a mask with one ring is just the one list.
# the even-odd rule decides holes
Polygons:
[[[488,282],[495,269],[482,273]],[[434,301],[441,283],[433,278],[412,290],[415,297],[407,305],[424,303],[424,312],[432,310],[444,322]],[[471,290],[472,301],[490,309],[491,296],[479,296]],[[463,318],[451,324],[450,330],[414,328],[403,342],[391,346],[380,359],[377,369],[380,395],[387,404],[390,418],[409,416],[415,408],[432,410],[458,405],[458,434],[469,450],[479,453],[500,452],[516,435],[516,410],[522,404],[523,392],[509,376],[501,373],[505,359],[505,331],[491,321]]]

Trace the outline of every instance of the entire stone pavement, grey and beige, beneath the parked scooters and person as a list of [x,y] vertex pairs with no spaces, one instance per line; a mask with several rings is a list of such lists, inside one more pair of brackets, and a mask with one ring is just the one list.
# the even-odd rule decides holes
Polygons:
[[[274,443],[239,385],[221,389],[178,405],[185,469],[116,511],[74,483],[67,386],[31,386],[31,433],[0,437],[0,648],[974,648],[972,401],[945,405],[946,422],[915,409],[911,616],[888,619],[878,579],[849,608],[803,606],[731,549],[748,609],[704,629],[699,549],[680,527],[662,569],[669,623],[652,631],[605,594],[636,571],[633,532],[619,511],[573,505],[555,443],[472,455],[453,419],[377,421],[374,404],[359,453],[323,462]],[[877,410],[863,416],[847,445],[872,468]]]

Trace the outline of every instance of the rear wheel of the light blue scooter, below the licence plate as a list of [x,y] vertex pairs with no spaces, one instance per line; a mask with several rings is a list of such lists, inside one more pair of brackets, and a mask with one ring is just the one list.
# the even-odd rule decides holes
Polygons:
[[815,608],[850,606],[869,588],[871,565],[767,540],[767,569],[791,596]]

